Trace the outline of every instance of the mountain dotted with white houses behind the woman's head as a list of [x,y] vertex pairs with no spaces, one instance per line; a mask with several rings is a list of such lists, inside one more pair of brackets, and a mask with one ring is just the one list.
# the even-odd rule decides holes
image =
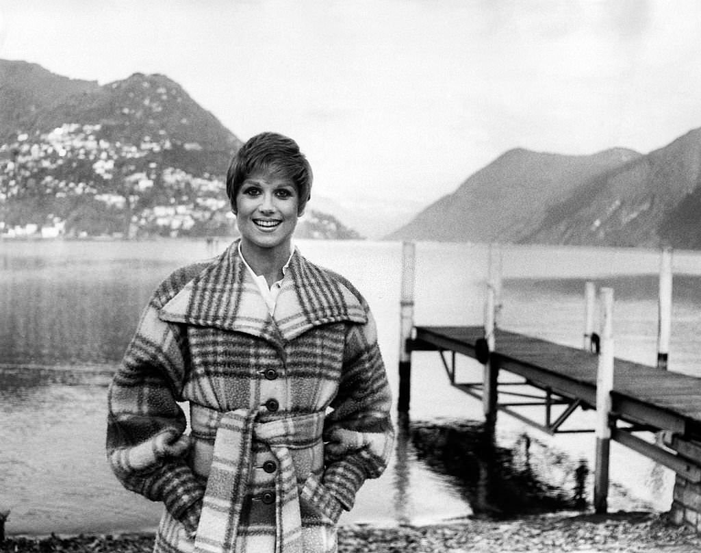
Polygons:
[[[0,232],[235,234],[224,177],[241,141],[179,84],[100,86],[0,60]],[[357,238],[316,212],[300,232]]]

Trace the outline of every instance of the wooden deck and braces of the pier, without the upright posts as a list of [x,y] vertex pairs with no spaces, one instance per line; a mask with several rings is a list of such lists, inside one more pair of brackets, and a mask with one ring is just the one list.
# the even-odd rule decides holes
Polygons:
[[[456,381],[455,363],[445,353],[477,358],[483,327],[415,327],[411,350],[437,350],[451,384],[482,400],[484,382]],[[594,429],[563,430],[562,426],[576,409],[596,409],[597,363],[594,353],[561,346],[497,329],[496,350],[490,362],[499,373],[522,378],[496,382],[496,409],[536,426],[549,434],[557,432],[594,432]],[[657,367],[615,359],[611,390],[612,439],[639,453],[701,482],[701,467],[677,456],[669,446],[651,444],[633,432],[664,432],[667,437],[701,440],[701,378],[661,371]],[[502,374],[502,376],[505,376]],[[512,392],[518,385],[539,390],[536,393]],[[543,407],[543,421],[523,413],[523,407]],[[557,411],[559,407],[559,412]],[[564,410],[563,410],[564,409]],[[557,416],[556,416],[557,414]],[[670,442],[669,445],[672,445]],[[679,443],[677,444],[679,446]],[[689,444],[685,453],[695,451],[701,460],[701,448]]]

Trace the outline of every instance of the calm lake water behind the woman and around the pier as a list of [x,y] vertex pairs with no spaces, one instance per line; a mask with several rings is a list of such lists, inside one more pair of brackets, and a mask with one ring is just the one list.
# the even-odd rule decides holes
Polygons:
[[[365,294],[396,390],[401,245],[300,241],[299,247],[313,261],[348,276]],[[154,287],[177,266],[209,253],[203,241],[183,240],[0,243],[0,507],[12,510],[8,533],[137,530],[156,524],[161,506],[121,489],[104,459],[107,383]],[[488,249],[481,245],[418,244],[416,324],[481,322],[487,259]],[[652,364],[658,264],[651,250],[505,249],[501,326],[580,346],[583,278],[594,278],[615,289],[617,355]],[[676,252],[674,266],[679,276],[670,368],[701,376],[701,338],[695,332],[701,322],[696,276],[701,259]],[[460,360],[459,369],[465,378],[479,374],[470,360]],[[460,475],[449,470],[450,463],[426,453],[426,425],[454,428],[456,420],[482,419],[481,405],[450,388],[442,370],[435,353],[414,354],[411,420],[416,424],[397,441],[386,474],[363,487],[342,521],[421,523],[463,517],[476,507],[474,486],[457,486]],[[521,463],[526,455],[529,467],[542,465],[540,472],[563,489],[573,486],[576,466],[593,466],[593,436],[551,438],[527,430],[525,437],[523,425],[500,417],[498,443],[512,452],[510,463]],[[625,471],[624,463],[616,462],[622,456]],[[667,470],[613,444],[611,473],[613,510],[669,508]]]

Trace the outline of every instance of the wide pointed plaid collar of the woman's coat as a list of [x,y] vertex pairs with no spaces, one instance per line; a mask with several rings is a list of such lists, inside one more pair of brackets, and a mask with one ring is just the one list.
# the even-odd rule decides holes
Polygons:
[[317,325],[367,322],[365,308],[343,278],[311,264],[295,250],[274,318],[234,242],[190,280],[159,313],[162,320],[246,332],[278,343]]

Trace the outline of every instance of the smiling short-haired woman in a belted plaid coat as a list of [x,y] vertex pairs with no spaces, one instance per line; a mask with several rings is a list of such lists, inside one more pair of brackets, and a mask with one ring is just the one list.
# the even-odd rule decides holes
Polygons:
[[292,139],[246,142],[226,177],[240,240],[158,287],[114,376],[108,458],[165,503],[157,552],[335,551],[341,511],[386,467],[367,303],[292,247],[311,182]]

